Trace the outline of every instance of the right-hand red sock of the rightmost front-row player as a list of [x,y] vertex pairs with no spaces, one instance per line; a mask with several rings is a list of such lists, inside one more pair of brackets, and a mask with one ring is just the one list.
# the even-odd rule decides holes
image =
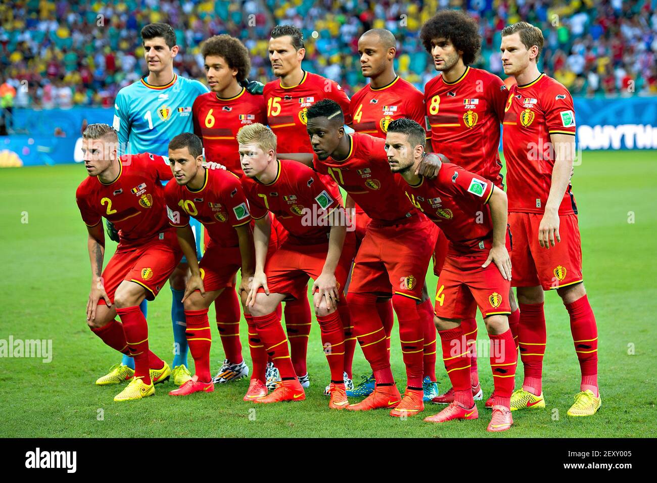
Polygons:
[[488,334],[488,337],[491,340],[490,359],[495,386],[493,405],[501,405],[509,409],[518,364],[516,344],[513,342],[510,330],[503,334]]

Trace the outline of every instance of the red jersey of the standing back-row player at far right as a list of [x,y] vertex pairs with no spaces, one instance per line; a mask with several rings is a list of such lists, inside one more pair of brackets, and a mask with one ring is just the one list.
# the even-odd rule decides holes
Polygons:
[[[550,135],[575,135],[573,99],[566,87],[541,74],[527,85],[511,87],[505,111],[503,146],[509,212],[543,213],[555,166]],[[568,183],[559,214],[576,213]]]

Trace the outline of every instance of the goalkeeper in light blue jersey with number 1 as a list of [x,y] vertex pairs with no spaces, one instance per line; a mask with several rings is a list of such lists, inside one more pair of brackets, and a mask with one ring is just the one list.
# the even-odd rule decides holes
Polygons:
[[[141,38],[148,74],[124,87],[116,95],[114,129],[119,137],[120,154],[152,152],[166,156],[172,137],[193,130],[191,114],[194,99],[208,89],[199,81],[185,79],[173,72],[173,58],[179,47],[170,25],[148,24],[141,30]],[[196,237],[200,239],[200,225],[194,223]],[[187,369],[185,308],[182,302],[186,274],[187,265],[181,263],[169,281],[175,343],[173,381],[176,385],[191,378]],[[122,364],[101,380],[120,382],[122,378],[126,379],[131,364],[130,359],[124,357]]]

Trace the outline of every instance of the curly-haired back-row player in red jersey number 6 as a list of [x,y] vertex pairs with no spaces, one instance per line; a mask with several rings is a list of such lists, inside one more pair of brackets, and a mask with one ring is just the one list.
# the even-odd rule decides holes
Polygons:
[[[230,35],[214,35],[201,46],[210,92],[196,97],[192,106],[194,133],[202,139],[204,155],[238,176],[242,175],[237,131],[254,122],[266,122],[265,101],[249,93],[246,80],[251,62],[242,42]],[[206,230],[206,242],[208,231]],[[214,304],[217,329],[225,360],[214,382],[225,383],[248,375],[240,343],[240,302],[235,284],[225,287]]]

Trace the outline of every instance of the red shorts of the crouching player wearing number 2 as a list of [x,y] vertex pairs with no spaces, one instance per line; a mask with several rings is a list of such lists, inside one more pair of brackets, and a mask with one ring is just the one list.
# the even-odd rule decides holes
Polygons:
[[[147,288],[147,300],[153,300],[164,287],[183,252],[175,228],[165,229],[152,241],[125,250],[118,246],[102,271],[105,292],[114,304],[114,293],[122,281],[129,280]],[[104,304],[104,300],[99,300]]]

